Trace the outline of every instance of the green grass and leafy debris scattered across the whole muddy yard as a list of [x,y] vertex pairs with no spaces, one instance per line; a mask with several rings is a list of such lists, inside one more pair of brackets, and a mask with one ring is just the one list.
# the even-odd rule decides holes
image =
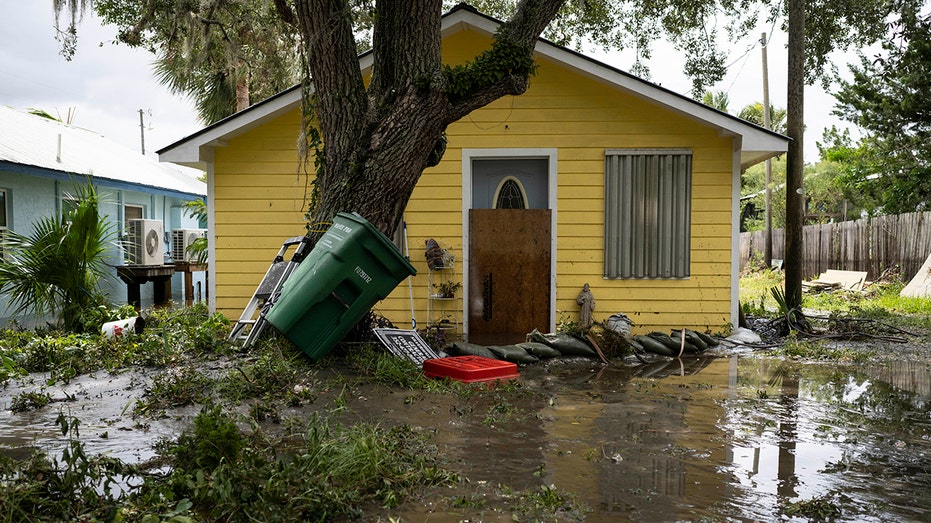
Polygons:
[[[774,310],[775,303],[767,300],[772,300],[770,289],[781,285],[780,277],[770,271],[745,275],[742,300]],[[901,299],[900,288],[806,296],[805,303],[883,319],[902,315],[919,322],[931,316],[928,300]],[[880,312],[886,310],[894,312]],[[530,413],[525,402],[517,401],[525,399],[521,395],[538,393],[520,382],[483,387],[429,379],[375,344],[334,351],[317,364],[274,338],[238,352],[225,340],[228,322],[203,307],[153,312],[149,323],[144,334],[119,339],[0,332],[0,383],[27,372],[47,372],[48,381],[55,382],[99,369],[145,366],[157,372],[134,415],[162,416],[177,406],[200,406],[183,434],[160,442],[157,457],[137,467],[86,455],[76,422],[62,421],[69,437],[62,457],[37,453],[21,462],[0,457],[0,484],[9,492],[0,496],[0,522],[22,519],[33,510],[65,521],[353,519],[374,506],[397,506],[411,494],[466,481],[444,468],[428,431],[339,421],[357,385],[401,391],[405,404],[451,394],[458,400],[452,408],[460,415],[503,431]],[[780,351],[789,358],[859,361],[862,356],[812,340],[784,345]],[[228,356],[225,365],[204,365],[219,354]],[[43,390],[26,392],[16,405],[48,408],[42,405],[49,400]],[[313,402],[322,403],[316,414],[299,420],[284,415],[286,407]],[[125,478],[132,478],[134,486],[122,496],[100,488]],[[571,493],[552,486],[519,492],[498,488],[521,521],[579,519],[583,513]],[[485,509],[483,497],[466,493],[448,499],[453,508]],[[810,505],[800,504],[800,513],[826,513],[825,507]]]

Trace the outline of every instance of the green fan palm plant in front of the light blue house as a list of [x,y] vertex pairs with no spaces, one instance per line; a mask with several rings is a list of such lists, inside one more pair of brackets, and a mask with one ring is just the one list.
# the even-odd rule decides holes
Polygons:
[[14,314],[58,316],[67,330],[82,330],[85,312],[104,302],[97,284],[108,275],[105,255],[115,240],[101,220],[92,181],[77,190],[77,207],[40,219],[29,236],[9,231],[0,260],[0,291]]

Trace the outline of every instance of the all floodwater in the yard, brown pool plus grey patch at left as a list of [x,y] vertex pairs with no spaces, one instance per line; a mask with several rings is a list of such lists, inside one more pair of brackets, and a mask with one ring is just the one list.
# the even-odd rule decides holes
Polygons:
[[[530,393],[465,398],[373,386],[352,392],[347,415],[427,431],[468,488],[553,485],[585,507],[585,521],[809,521],[792,510],[812,500],[837,507],[836,521],[931,521],[927,359],[845,367],[731,354],[649,365],[551,361],[520,372]],[[155,439],[183,423],[132,419],[126,407],[140,379],[75,380],[48,390],[84,401],[22,414],[9,402],[23,387],[7,387],[0,451],[60,444],[54,419],[65,405],[82,418],[88,451],[146,459]],[[493,501],[454,508],[454,495],[444,487],[367,519],[512,521]]]

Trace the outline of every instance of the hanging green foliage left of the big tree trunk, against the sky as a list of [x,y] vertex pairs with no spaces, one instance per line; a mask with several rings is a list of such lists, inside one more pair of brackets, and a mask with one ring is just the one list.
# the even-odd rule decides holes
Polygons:
[[249,103],[295,84],[300,60],[297,28],[267,0],[53,0],[70,15],[58,28],[61,54],[74,55],[80,17],[91,10],[115,41],[156,55],[155,74],[178,94],[189,96],[204,123],[211,124]]

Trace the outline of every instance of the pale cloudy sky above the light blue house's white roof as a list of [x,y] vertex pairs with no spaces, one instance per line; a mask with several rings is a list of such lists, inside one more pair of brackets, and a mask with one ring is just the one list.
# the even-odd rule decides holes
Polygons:
[[141,151],[154,152],[203,127],[193,104],[171,94],[152,74],[152,54],[111,45],[115,29],[88,13],[78,27],[72,61],[59,54],[52,0],[0,0],[0,104],[42,109],[78,127]]

